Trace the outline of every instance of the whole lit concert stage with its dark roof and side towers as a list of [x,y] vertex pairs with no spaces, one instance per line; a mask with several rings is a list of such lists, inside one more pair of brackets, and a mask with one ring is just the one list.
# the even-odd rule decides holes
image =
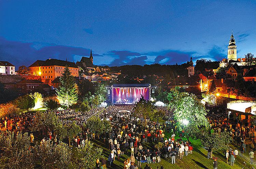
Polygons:
[[108,100],[111,105],[132,105],[136,104],[141,95],[150,100],[151,93],[155,93],[156,86],[151,84],[113,84],[107,86]]

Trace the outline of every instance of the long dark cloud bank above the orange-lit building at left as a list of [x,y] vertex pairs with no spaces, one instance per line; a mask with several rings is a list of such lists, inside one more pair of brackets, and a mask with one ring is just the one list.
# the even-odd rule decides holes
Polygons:
[[[1,60],[9,61],[16,67],[20,65],[29,66],[36,60],[46,60],[55,58],[69,61],[80,60],[82,56],[89,56],[90,49],[64,46],[56,44],[29,43],[20,41],[9,41],[5,38],[0,38],[0,54]],[[93,56],[102,56],[93,54]]]

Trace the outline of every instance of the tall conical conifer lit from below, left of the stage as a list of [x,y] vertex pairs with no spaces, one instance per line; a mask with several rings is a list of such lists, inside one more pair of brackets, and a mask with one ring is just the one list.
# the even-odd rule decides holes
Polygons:
[[60,104],[67,106],[76,103],[78,95],[78,87],[75,82],[74,76],[71,75],[71,72],[66,66],[60,77],[60,86],[57,89],[57,96],[60,101]]

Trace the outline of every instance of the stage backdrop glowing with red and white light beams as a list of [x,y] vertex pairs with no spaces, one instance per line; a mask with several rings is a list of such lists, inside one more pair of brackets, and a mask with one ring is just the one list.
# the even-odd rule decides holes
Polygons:
[[135,104],[140,100],[141,95],[149,100],[149,89],[146,87],[114,88],[113,102],[114,104]]

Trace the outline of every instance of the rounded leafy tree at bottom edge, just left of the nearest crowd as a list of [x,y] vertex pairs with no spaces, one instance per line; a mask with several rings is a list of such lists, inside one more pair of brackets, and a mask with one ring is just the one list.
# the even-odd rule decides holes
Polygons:
[[77,149],[75,159],[72,162],[73,168],[95,168],[96,159],[103,158],[103,149],[95,147],[90,141],[85,141],[85,146]]

